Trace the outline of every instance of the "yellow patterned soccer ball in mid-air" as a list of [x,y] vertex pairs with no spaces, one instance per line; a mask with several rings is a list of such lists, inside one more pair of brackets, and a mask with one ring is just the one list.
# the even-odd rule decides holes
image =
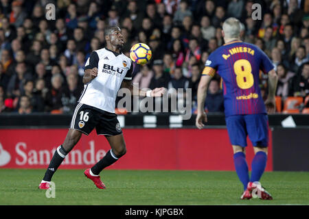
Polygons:
[[130,58],[136,64],[146,64],[151,55],[150,48],[144,43],[137,43],[130,49]]

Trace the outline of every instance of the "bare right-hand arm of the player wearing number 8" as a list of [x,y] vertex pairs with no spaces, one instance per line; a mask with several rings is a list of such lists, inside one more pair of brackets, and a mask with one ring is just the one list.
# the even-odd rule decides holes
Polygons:
[[277,89],[278,76],[275,70],[268,72],[268,96],[265,106],[268,114],[275,113],[275,92]]

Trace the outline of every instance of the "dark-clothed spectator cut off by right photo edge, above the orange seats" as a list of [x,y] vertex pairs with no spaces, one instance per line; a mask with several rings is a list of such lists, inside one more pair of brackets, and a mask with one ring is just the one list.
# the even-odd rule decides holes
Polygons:
[[293,77],[290,93],[294,96],[306,96],[309,94],[309,62],[301,66],[301,74]]

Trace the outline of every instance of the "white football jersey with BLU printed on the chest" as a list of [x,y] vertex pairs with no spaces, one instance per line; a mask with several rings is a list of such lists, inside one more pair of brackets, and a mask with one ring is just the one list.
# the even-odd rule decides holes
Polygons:
[[78,102],[115,113],[117,92],[122,81],[132,80],[133,64],[123,53],[103,48],[93,51],[84,70],[98,68],[98,76],[84,85]]

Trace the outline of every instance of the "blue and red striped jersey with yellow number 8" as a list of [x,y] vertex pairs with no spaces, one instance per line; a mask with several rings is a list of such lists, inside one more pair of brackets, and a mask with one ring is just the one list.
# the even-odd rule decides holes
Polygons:
[[208,57],[202,75],[222,78],[225,116],[266,114],[259,87],[260,70],[268,73],[273,64],[258,47],[235,40],[223,44]]

